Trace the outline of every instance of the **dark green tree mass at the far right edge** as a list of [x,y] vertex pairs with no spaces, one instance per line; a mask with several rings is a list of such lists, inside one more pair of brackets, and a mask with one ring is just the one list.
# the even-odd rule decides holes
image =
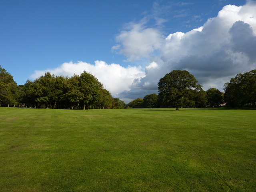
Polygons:
[[224,100],[229,106],[253,106],[256,104],[256,70],[237,74],[224,85]]

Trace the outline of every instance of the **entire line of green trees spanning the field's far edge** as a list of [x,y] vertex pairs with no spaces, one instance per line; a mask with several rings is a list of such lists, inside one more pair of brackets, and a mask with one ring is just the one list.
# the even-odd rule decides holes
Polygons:
[[127,105],[113,98],[98,79],[88,73],[72,77],[46,72],[34,81],[17,86],[13,76],[0,66],[0,106],[26,108],[203,108],[226,104],[232,107],[256,104],[256,70],[237,74],[224,84],[224,92],[207,91],[186,70],[173,70],[158,82],[158,95],[148,94]]

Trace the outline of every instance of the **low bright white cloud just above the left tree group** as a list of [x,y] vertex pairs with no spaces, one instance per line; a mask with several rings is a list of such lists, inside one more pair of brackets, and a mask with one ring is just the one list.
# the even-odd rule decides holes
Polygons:
[[38,78],[46,71],[56,76],[73,76],[74,74],[81,74],[83,71],[90,72],[96,76],[96,78],[102,82],[104,88],[110,91],[115,97],[118,97],[118,93],[120,92],[130,90],[129,86],[134,79],[140,79],[145,76],[141,68],[137,66],[128,66],[125,68],[119,64],[107,64],[103,61],[96,61],[95,64],[79,61],[77,63],[64,63],[55,69],[35,71],[31,78]]

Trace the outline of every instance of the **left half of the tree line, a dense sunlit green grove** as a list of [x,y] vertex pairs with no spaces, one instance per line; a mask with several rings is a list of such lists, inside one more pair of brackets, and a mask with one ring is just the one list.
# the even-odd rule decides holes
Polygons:
[[10,73],[0,66],[0,105],[26,108],[124,108],[124,101],[113,98],[98,79],[88,73],[72,77],[46,72],[34,81],[17,86]]

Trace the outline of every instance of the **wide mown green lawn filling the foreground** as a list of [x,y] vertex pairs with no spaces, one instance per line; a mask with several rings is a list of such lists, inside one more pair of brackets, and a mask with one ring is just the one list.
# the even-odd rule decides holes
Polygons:
[[1,107],[0,191],[256,191],[256,110]]

